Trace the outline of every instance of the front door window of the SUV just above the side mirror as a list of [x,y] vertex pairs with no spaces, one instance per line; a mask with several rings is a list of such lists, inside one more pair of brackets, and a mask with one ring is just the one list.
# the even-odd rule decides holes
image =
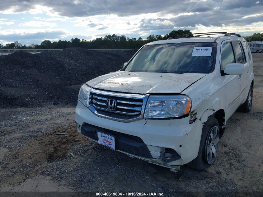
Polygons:
[[221,69],[223,70],[228,63],[235,63],[234,53],[231,43],[225,43],[222,47]]

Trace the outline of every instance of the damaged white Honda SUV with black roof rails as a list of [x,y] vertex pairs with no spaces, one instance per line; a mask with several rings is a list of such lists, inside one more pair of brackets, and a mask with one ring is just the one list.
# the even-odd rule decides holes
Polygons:
[[148,43],[120,71],[85,83],[78,132],[172,171],[211,165],[226,121],[251,110],[254,74],[244,38],[210,34],[224,35]]

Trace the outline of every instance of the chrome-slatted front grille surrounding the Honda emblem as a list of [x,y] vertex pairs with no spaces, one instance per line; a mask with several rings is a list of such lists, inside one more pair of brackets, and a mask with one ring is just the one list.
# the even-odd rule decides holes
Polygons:
[[[142,118],[142,111],[148,95],[134,95],[114,93],[92,89],[90,91],[89,105],[96,115],[103,115],[116,120],[134,120]],[[115,110],[107,109],[107,100],[116,101]],[[144,102],[145,101],[145,102]]]

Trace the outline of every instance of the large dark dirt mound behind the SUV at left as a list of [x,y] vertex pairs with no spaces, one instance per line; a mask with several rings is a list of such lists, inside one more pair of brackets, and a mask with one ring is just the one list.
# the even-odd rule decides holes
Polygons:
[[0,108],[75,105],[83,83],[119,70],[134,53],[68,48],[0,56]]

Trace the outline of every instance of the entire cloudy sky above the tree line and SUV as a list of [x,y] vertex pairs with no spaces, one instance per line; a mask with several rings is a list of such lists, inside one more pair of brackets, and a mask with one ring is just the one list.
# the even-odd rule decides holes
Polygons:
[[263,33],[263,0],[0,0],[0,44],[145,39],[172,30]]

